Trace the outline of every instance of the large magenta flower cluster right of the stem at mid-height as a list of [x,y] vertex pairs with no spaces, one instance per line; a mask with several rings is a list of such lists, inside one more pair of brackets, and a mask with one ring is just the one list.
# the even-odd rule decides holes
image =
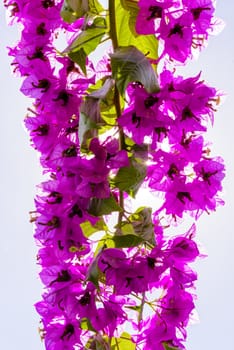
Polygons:
[[221,203],[217,192],[224,165],[220,157],[210,157],[203,134],[213,123],[217,91],[201,81],[200,74],[183,79],[164,70],[158,93],[149,94],[139,84],[128,93],[129,106],[118,121],[136,144],[151,140],[148,185],[164,194],[157,212],[198,217],[215,210]]

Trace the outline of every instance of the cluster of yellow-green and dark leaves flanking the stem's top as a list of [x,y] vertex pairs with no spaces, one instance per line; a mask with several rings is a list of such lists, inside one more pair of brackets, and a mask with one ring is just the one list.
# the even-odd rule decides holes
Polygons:
[[[119,48],[112,56],[112,71],[121,94],[124,94],[127,84],[132,81],[146,83],[146,89],[150,92],[158,88],[155,72],[148,60],[149,58],[157,59],[158,41],[154,35],[136,33],[135,22],[138,10],[137,1],[115,2]],[[82,30],[63,51],[63,54],[76,62],[85,74],[86,57],[96,50],[103,39],[110,39],[111,23],[107,13],[97,0],[66,0],[64,2],[61,15],[65,21],[71,23],[78,18],[85,18]],[[148,59],[144,59],[146,56]],[[126,79],[123,79],[126,72]]]

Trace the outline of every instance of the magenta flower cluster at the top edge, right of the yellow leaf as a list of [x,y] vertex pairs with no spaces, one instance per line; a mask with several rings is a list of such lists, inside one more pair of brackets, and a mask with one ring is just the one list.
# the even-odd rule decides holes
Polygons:
[[201,49],[215,28],[213,0],[139,0],[139,34],[155,34],[162,56],[184,63]]

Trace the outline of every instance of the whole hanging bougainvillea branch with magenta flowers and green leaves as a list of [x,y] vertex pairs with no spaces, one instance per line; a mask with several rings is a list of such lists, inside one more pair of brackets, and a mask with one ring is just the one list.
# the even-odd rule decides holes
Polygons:
[[45,176],[31,221],[47,350],[185,349],[195,222],[223,204],[224,165],[205,139],[221,94],[176,68],[215,32],[214,2],[4,1]]

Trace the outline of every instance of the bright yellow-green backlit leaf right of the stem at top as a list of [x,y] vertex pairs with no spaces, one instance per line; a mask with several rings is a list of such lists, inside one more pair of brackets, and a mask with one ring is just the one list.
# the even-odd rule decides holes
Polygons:
[[119,46],[134,45],[149,59],[158,58],[158,40],[155,35],[138,35],[135,32],[136,0],[116,1],[116,27]]

